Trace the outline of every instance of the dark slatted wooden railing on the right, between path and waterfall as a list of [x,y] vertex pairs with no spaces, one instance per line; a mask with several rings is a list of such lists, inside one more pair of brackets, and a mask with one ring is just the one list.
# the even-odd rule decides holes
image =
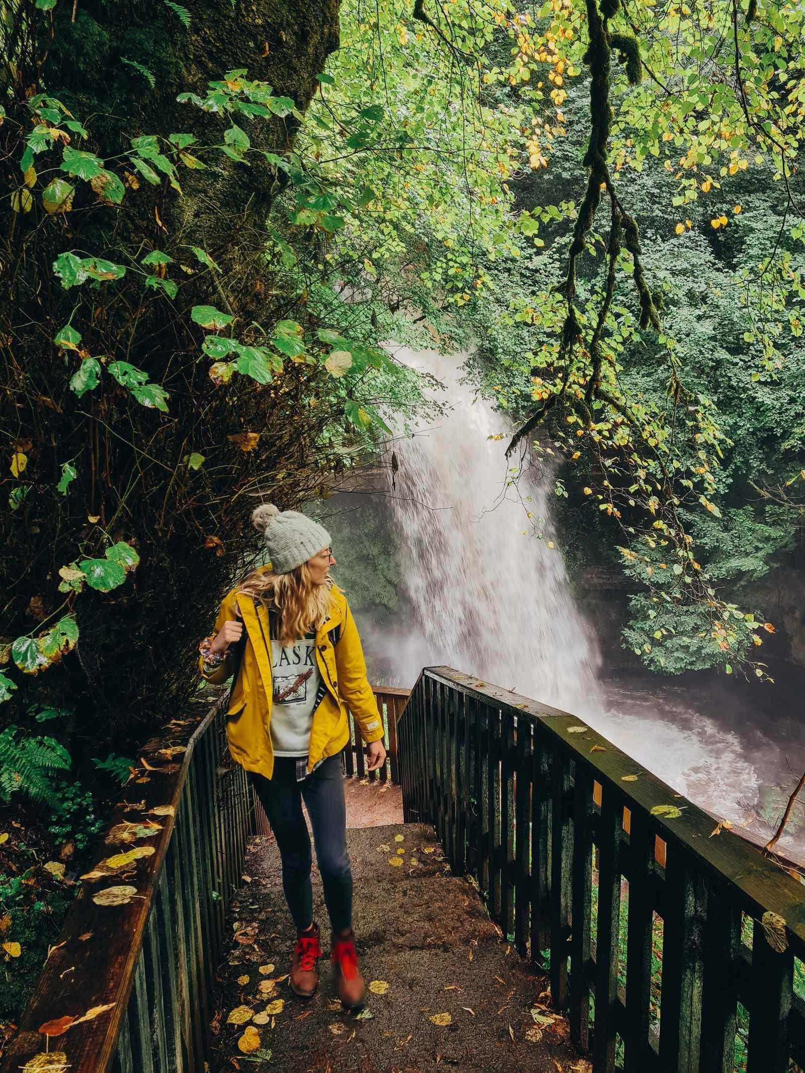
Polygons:
[[580,719],[449,667],[423,671],[397,735],[406,820],[550,966],[594,1073],[805,1064],[794,878]]

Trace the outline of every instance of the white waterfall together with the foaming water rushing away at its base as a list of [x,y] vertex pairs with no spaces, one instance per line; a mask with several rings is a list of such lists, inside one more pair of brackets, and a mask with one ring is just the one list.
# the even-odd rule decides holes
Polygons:
[[[550,468],[507,488],[511,423],[459,383],[462,357],[390,349],[436,376],[445,389],[433,395],[452,409],[395,443],[393,524],[410,606],[397,631],[372,637],[372,648],[406,686],[423,666],[449,664],[564,708],[676,792],[741,822],[758,777],[733,727],[656,679],[636,690],[599,684],[595,635],[574,604],[559,548],[548,546]],[[542,539],[527,511],[544,519]]]

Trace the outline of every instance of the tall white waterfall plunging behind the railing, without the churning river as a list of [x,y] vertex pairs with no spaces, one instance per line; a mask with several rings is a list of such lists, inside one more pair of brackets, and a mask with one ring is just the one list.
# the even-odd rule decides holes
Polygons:
[[437,377],[444,389],[430,395],[452,408],[395,443],[392,511],[410,617],[386,641],[399,680],[445,663],[590,714],[599,656],[553,546],[551,471],[527,471],[507,487],[511,421],[460,383],[463,357],[397,347],[394,354]]

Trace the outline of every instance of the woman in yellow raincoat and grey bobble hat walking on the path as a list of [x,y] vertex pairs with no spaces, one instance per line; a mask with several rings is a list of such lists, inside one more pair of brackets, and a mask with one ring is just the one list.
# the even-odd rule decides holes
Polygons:
[[330,533],[304,514],[270,503],[251,517],[270,563],[224,598],[215,633],[200,645],[201,672],[210,682],[234,676],[226,736],[279,847],[282,887],[296,925],[291,987],[304,998],[313,995],[322,956],[304,799],[332,925],[338,996],[345,1005],[358,1006],[365,987],[352,931],[341,750],[350,740],[349,708],[368,744],[369,770],[380,767],[383,722],[355,620],[330,577]]

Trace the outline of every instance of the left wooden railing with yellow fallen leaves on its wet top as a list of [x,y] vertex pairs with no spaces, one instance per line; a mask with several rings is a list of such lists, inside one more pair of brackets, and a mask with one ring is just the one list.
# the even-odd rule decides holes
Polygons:
[[103,874],[70,908],[2,1073],[45,1050],[48,1062],[32,1068],[204,1069],[226,909],[248,835],[267,829],[230,758],[224,708],[174,721],[142,751],[93,869]]

